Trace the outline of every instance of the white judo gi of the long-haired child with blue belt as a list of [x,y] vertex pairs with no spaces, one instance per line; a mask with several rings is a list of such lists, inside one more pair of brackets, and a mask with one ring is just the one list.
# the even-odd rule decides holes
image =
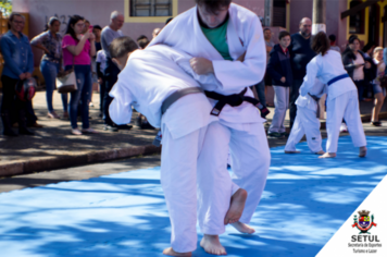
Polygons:
[[[330,79],[342,74],[347,74],[347,71],[344,69],[339,52],[328,50],[324,57],[319,54],[307,65],[307,75],[300,87],[300,94],[307,96],[315,86],[316,77],[322,83],[328,84]],[[346,120],[353,145],[355,147],[365,146],[366,140],[359,111],[358,89],[352,79],[346,77],[328,85],[327,95],[326,128],[328,140],[326,151],[337,151],[342,118]]]

